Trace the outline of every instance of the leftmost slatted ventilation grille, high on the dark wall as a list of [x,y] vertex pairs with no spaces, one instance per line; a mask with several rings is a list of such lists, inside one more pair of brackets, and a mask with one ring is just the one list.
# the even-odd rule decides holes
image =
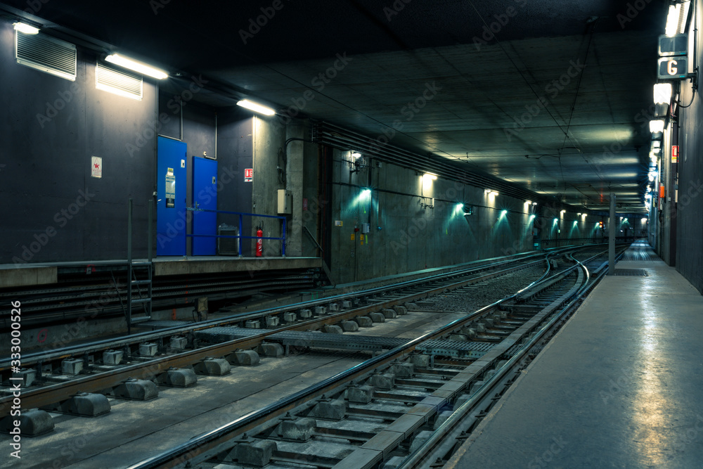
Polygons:
[[45,34],[15,34],[17,63],[51,73],[57,77],[76,79],[76,46]]

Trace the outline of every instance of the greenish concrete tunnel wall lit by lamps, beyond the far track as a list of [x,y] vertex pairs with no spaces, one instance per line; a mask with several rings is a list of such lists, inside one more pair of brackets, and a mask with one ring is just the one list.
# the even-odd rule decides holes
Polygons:
[[[336,283],[531,250],[524,200],[423,179],[412,169],[386,163],[378,167],[375,160],[359,160],[359,172],[352,173],[357,167],[349,165],[348,155],[333,153],[337,226],[333,221],[330,269]],[[432,198],[434,207],[427,207]],[[464,216],[459,203],[472,205],[473,214]],[[364,223],[370,224],[368,234],[361,232]]]

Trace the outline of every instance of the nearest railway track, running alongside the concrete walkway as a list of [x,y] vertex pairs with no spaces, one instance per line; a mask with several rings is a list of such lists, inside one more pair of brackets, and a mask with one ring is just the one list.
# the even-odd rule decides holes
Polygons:
[[575,262],[131,469],[441,467],[595,285]]

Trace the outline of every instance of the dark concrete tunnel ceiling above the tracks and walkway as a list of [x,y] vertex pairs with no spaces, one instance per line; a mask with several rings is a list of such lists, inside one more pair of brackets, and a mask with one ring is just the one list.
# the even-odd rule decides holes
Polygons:
[[563,203],[603,210],[613,192],[644,211],[664,0],[5,3],[230,96],[389,136]]

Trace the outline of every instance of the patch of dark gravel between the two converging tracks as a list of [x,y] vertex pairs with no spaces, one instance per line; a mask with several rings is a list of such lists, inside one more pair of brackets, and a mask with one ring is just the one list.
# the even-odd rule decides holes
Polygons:
[[[453,292],[429,297],[420,305],[425,311],[465,311],[473,312],[486,304],[502,300],[517,290],[526,287],[544,274],[543,266],[528,267],[520,271],[494,278],[479,288],[461,288]],[[432,302],[432,304],[428,304]]]

